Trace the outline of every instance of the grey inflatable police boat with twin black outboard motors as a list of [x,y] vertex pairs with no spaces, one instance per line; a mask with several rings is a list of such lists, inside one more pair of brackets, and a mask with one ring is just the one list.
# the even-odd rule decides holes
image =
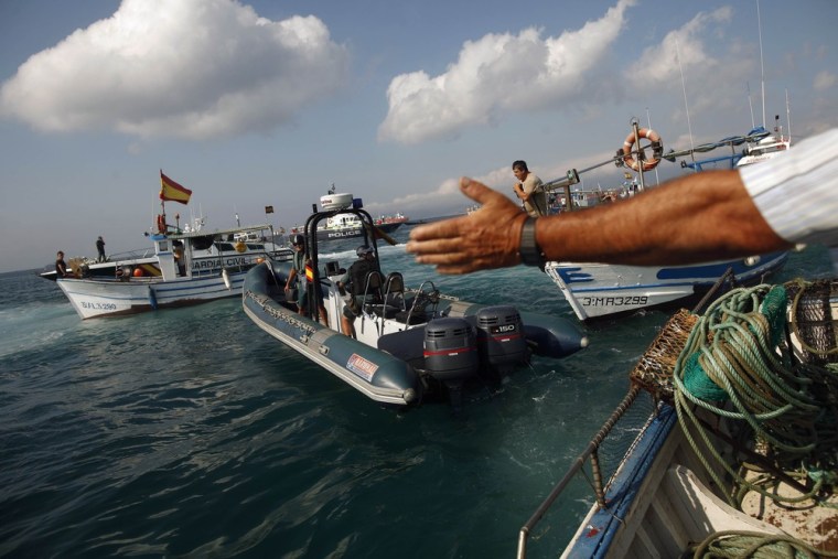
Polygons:
[[[364,224],[358,243],[376,257],[363,278],[352,280],[352,293],[342,292],[339,284],[346,271],[340,262],[320,260],[315,233],[321,222],[345,212]],[[410,289],[398,271],[385,276],[372,225],[364,209],[342,205],[307,222],[310,262],[304,289],[309,301],[322,302],[324,312],[310,304],[300,314],[284,290],[291,264],[266,261],[247,273],[245,313],[280,343],[368,398],[402,407],[439,396],[459,406],[471,384],[497,381],[526,366],[531,354],[560,358],[587,345],[584,334],[567,319],[508,304],[469,303],[441,294],[432,281]],[[347,304],[356,308],[354,333],[343,330]]]

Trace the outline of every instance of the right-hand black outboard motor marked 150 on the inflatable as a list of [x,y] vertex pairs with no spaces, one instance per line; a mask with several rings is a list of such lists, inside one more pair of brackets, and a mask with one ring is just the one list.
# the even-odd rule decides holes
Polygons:
[[527,362],[524,324],[515,307],[486,307],[477,311],[477,350],[492,370],[503,372]]

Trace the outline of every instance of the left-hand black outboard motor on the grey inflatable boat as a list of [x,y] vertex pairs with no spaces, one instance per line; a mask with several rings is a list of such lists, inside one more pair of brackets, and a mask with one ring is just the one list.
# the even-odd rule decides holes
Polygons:
[[459,408],[465,379],[477,372],[477,340],[464,319],[442,318],[425,326],[425,368],[449,389],[451,404]]

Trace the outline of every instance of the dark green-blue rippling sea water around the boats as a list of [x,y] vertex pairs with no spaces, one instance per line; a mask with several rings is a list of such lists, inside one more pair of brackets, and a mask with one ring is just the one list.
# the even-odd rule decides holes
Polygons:
[[[400,233],[383,269],[409,287],[576,320],[537,269],[440,277]],[[776,280],[829,271],[810,247]],[[0,556],[513,557],[667,318],[587,327],[590,347],[535,357],[460,412],[399,411],[265,334],[239,298],[80,321],[55,283],[2,275]],[[558,555],[590,493],[556,505],[528,557]]]

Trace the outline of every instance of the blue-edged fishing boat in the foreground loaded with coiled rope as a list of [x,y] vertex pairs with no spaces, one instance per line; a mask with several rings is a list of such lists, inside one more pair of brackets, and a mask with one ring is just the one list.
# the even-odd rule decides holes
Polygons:
[[580,477],[593,505],[563,552],[533,541],[539,557],[835,557],[836,332],[835,278],[740,289],[673,315],[522,527],[518,559],[579,498],[566,491]]

